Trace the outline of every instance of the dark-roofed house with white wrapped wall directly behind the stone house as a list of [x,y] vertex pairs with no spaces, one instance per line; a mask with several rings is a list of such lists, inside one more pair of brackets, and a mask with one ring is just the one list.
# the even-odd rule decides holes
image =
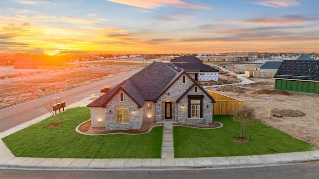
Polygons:
[[194,55],[183,55],[170,60],[170,63],[185,70],[195,81],[218,81],[218,70],[204,64]]

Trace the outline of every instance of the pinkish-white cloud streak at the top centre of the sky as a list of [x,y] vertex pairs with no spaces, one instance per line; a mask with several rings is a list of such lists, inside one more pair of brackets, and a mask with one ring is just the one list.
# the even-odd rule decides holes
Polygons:
[[186,3],[179,0],[108,0],[108,1],[136,6],[136,7],[154,8],[154,9],[158,7],[210,9],[208,6]]

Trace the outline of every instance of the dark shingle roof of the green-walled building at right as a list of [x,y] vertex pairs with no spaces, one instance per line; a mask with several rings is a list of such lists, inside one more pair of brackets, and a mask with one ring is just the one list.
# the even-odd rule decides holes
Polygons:
[[319,81],[319,61],[284,60],[274,78]]

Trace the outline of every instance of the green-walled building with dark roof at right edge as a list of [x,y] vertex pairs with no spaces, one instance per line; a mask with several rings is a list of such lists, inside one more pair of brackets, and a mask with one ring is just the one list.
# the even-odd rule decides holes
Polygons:
[[284,60],[275,78],[275,89],[319,94],[318,60]]

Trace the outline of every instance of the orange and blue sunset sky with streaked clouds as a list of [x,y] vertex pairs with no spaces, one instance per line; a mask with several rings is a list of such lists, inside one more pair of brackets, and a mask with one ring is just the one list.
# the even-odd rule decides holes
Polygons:
[[0,53],[319,52],[319,0],[0,0]]

